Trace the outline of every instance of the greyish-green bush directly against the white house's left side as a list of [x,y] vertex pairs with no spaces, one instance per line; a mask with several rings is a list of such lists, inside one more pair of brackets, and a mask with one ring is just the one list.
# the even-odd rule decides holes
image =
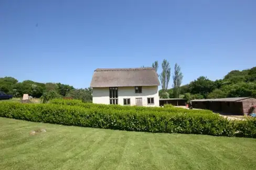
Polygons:
[[84,103],[92,102],[92,88],[72,89],[67,93],[66,97],[82,100]]

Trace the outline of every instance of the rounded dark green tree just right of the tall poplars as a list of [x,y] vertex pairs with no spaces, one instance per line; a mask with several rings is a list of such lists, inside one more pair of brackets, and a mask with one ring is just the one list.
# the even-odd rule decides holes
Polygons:
[[204,76],[200,76],[197,80],[189,83],[190,93],[201,94],[204,98],[206,98],[208,93],[211,93],[215,88],[215,83]]

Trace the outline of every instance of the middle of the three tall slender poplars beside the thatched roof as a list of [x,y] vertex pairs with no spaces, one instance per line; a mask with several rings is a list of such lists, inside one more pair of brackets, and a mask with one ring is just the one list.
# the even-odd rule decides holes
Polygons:
[[159,75],[159,78],[162,85],[162,89],[164,90],[164,92],[166,92],[170,81],[170,64],[165,59],[162,63],[162,69],[163,70],[162,73]]

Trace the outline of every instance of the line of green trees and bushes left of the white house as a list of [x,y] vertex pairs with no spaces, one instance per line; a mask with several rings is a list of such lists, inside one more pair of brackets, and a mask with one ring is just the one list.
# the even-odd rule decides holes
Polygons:
[[80,88],[61,83],[38,83],[30,80],[18,82],[13,77],[0,78],[0,91],[13,97],[22,97],[28,94],[31,97],[43,98],[49,100],[51,98],[69,97],[80,99],[84,102],[92,101],[92,89]]

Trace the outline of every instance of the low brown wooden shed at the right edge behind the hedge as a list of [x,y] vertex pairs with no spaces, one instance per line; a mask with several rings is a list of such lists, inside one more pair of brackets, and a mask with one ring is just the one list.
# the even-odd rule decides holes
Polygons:
[[232,97],[191,100],[193,108],[209,109],[222,114],[248,115],[255,111],[256,98]]

